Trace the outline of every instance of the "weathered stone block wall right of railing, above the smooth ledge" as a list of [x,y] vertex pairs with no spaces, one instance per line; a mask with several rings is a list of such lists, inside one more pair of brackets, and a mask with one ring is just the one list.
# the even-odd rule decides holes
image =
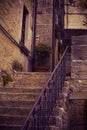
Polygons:
[[87,36],[73,36],[71,47],[71,83],[74,91],[87,91]]

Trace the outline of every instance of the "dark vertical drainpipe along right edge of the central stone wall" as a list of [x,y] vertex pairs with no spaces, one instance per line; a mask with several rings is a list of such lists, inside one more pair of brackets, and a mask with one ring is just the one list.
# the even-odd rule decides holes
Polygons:
[[53,0],[53,18],[52,18],[52,49],[53,49],[53,54],[52,54],[52,71],[54,69],[54,64],[55,64],[55,0]]

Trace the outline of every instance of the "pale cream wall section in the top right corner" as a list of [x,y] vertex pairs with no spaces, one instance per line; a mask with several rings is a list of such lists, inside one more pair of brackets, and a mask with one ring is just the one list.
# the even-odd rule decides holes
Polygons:
[[[77,2],[77,0],[75,0]],[[67,2],[66,2],[67,4]],[[69,4],[69,3],[68,3]],[[68,29],[86,29],[84,22],[86,21],[87,10],[82,10],[75,2],[69,6],[65,6],[65,28]]]

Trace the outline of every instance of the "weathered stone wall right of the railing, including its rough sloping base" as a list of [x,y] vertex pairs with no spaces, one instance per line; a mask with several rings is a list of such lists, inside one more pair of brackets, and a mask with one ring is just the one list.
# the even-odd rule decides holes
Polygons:
[[[71,102],[67,100],[72,90]],[[56,106],[46,130],[85,130],[84,104],[87,99],[87,36],[72,38],[71,77],[65,81],[60,101]],[[73,100],[74,99],[74,100]],[[87,126],[86,126],[87,128]]]

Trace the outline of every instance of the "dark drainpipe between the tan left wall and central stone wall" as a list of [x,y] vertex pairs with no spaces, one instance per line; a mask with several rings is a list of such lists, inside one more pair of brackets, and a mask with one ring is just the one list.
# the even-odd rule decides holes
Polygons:
[[33,36],[32,36],[32,71],[34,71],[35,68],[36,17],[37,17],[37,0],[34,0]]

